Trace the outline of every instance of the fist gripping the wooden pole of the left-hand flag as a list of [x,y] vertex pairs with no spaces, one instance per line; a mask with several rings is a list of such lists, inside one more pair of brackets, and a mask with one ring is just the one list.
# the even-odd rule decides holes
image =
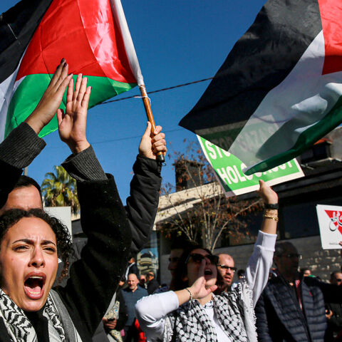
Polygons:
[[161,126],[157,126],[155,128],[154,134],[155,136],[151,138],[151,123],[147,121],[147,128],[145,130],[144,135],[140,140],[139,145],[139,155],[142,155],[147,158],[156,159],[158,152],[166,152],[166,141],[165,134],[160,133],[162,128]]

